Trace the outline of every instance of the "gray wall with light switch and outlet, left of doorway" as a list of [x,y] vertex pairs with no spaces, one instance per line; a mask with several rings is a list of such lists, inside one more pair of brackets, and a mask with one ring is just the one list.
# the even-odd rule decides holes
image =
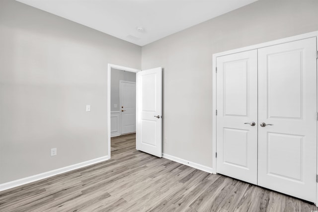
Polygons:
[[107,155],[107,64],[141,47],[0,0],[0,60],[0,183]]

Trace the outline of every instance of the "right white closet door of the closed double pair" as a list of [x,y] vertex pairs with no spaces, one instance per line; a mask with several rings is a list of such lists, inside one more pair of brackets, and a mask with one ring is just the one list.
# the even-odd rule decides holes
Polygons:
[[316,38],[258,50],[258,185],[311,202],[316,202],[316,63]]

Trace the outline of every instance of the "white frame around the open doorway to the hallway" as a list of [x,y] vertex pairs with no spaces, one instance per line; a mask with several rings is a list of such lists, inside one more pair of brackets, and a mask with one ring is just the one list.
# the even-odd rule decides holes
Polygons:
[[[107,148],[108,148],[108,157],[110,158],[110,73],[111,69],[117,69],[121,71],[130,71],[130,72],[139,72],[141,70],[138,69],[132,69],[128,67],[118,66],[114,64],[108,64],[107,69]],[[136,113],[137,113],[137,102],[136,102]]]

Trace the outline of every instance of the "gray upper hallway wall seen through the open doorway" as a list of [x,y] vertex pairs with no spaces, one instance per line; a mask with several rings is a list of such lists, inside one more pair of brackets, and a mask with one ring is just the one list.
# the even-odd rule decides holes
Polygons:
[[[136,73],[112,69],[110,74],[110,111],[119,111],[121,110],[121,106],[119,105],[119,81],[125,80],[136,82]],[[117,108],[114,107],[114,104],[117,104]]]

